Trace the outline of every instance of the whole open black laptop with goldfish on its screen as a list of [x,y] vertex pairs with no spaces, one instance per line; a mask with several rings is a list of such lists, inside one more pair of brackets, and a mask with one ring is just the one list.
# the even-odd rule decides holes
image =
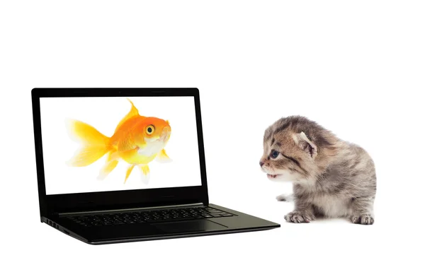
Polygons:
[[278,228],[210,203],[197,88],[34,88],[40,220],[89,244]]

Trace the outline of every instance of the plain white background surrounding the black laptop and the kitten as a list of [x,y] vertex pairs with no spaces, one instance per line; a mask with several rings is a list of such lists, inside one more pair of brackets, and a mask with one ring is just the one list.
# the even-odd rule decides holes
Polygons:
[[[423,1],[67,3],[0,4],[1,254],[424,258]],[[282,227],[93,247],[41,224],[34,87],[199,88],[210,201]],[[293,204],[274,197],[290,186],[269,182],[259,158],[263,130],[290,114],[370,152],[378,172],[374,225],[284,222]]]

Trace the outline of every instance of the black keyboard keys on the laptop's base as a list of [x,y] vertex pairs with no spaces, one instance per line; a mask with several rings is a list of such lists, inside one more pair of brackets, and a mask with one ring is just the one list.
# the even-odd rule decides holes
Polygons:
[[135,223],[154,223],[176,220],[194,220],[203,218],[225,218],[234,214],[210,207],[170,208],[152,211],[132,211],[123,213],[105,213],[96,215],[69,216],[69,220],[84,227],[125,225]]

